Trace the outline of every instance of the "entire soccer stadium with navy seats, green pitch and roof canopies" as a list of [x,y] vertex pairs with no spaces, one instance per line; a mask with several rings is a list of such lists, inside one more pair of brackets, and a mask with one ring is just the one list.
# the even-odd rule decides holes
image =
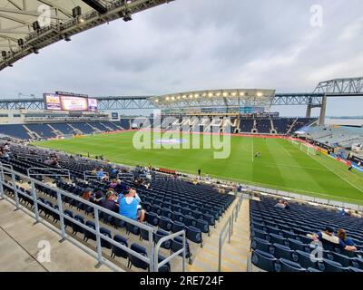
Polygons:
[[[176,2],[0,0],[1,73]],[[0,271],[362,272],[363,77],[216,85],[0,96]]]

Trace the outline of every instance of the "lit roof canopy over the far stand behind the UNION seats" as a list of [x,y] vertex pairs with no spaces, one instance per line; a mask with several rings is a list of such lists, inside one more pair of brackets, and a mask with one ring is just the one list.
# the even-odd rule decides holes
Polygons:
[[179,92],[149,99],[158,108],[201,108],[201,107],[270,107],[274,90],[229,89],[195,92]]

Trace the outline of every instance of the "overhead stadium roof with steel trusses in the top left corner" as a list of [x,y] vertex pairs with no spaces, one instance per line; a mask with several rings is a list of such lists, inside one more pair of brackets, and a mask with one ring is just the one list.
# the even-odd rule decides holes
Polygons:
[[74,34],[119,18],[132,20],[132,14],[172,1],[0,0],[0,71]]

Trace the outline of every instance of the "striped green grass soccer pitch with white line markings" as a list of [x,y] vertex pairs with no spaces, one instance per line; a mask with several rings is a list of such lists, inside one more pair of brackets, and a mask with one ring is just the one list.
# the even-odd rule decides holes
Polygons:
[[[348,172],[346,165],[324,155],[307,155],[288,140],[232,136],[230,157],[215,160],[215,150],[208,149],[136,150],[132,145],[134,134],[129,131],[72,140],[47,140],[34,145],[74,154],[90,153],[92,157],[103,155],[120,164],[150,163],[191,174],[201,169],[202,174],[220,179],[363,204],[362,173]],[[203,136],[199,138],[203,144]],[[252,160],[252,148],[254,152],[260,151],[260,158]]]

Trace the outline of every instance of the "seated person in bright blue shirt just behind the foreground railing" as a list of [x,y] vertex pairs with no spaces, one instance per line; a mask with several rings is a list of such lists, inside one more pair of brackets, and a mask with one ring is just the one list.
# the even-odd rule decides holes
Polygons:
[[120,200],[120,215],[142,222],[145,219],[145,211],[140,205],[141,199],[136,190],[130,189],[124,198]]

